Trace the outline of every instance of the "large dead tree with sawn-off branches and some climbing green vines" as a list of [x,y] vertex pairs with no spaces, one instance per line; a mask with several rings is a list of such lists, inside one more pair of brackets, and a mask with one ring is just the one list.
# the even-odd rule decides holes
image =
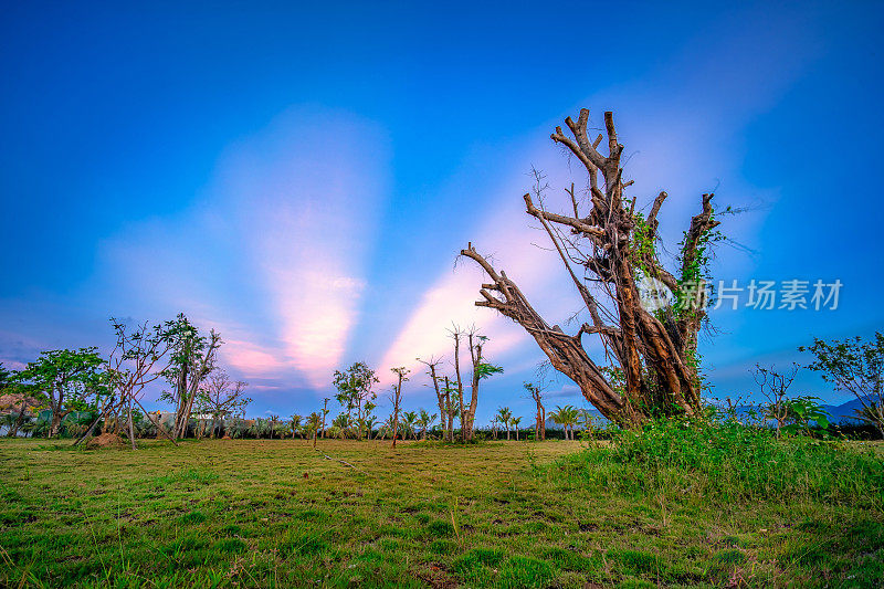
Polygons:
[[[539,175],[534,198],[527,193],[524,199],[527,213],[550,238],[589,320],[573,335],[550,326],[516,283],[469,244],[461,254],[475,261],[492,280],[482,285],[482,301],[476,305],[496,309],[522,325],[551,365],[614,422],[638,424],[661,413],[698,416],[696,346],[705,311],[692,302],[704,291],[704,250],[718,225],[711,204],[713,196],[703,194],[702,210],[685,232],[676,277],[657,256],[657,213],[666,192],[654,199],[646,218],[636,212],[635,199],[624,194],[632,182],[623,180],[623,146],[618,141],[612,113],[604,113],[607,156],[598,150],[602,135],[594,140],[588,136],[588,122],[589,111],[581,109],[577,122],[565,119],[570,136],[556,127],[551,138],[586,169],[589,210],[580,211],[573,185],[567,191],[572,210],[567,214],[546,210]],[[672,291],[678,303],[675,308],[646,311],[636,285],[644,278],[660,281]],[[606,357],[601,366],[587,353],[583,336],[588,335],[601,339]]]

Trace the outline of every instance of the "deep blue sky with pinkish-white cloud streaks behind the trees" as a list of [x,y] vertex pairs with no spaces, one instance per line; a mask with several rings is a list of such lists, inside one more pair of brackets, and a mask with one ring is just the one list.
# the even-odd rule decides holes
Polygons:
[[[253,413],[303,413],[335,368],[386,386],[474,322],[506,369],[480,420],[529,416],[543,357],[472,307],[454,257],[472,241],[551,323],[575,311],[520,194],[532,166],[555,194],[583,181],[548,137],[586,106],[614,111],[640,202],[669,191],[671,249],[715,190],[749,208],[716,277],[844,284],[838,311],[713,312],[714,395],[749,395],[755,362],[881,328],[882,25],[873,2],[8,6],[0,361],[183,311],[222,333]],[[432,407],[427,383],[406,407]],[[846,400],[809,374],[794,392]],[[550,402],[582,400],[561,380]]]

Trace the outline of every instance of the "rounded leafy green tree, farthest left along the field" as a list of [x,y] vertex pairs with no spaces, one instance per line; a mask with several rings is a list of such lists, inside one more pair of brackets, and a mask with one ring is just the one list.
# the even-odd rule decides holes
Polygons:
[[101,388],[104,360],[96,349],[44,351],[22,370],[22,381],[33,385],[49,400],[50,438],[57,435],[62,419],[71,411],[85,409],[104,392]]

